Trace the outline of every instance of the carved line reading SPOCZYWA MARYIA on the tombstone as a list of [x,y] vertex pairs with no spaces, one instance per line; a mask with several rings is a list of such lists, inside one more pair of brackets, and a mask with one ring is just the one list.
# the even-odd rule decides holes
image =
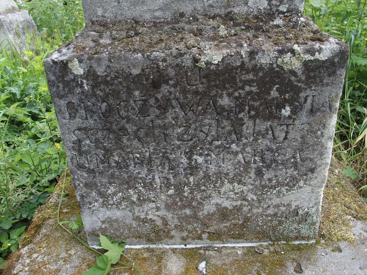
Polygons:
[[[275,115],[281,117],[286,114],[295,116],[300,113],[317,114],[330,113],[333,110],[333,100],[326,100],[317,95],[308,95],[292,104],[287,99],[252,99],[246,96],[227,98],[165,98],[152,100],[149,98],[124,99],[103,102],[68,102],[65,109],[68,115],[65,120],[90,120],[115,118],[152,119],[177,117],[253,117],[254,115]],[[292,106],[292,107],[290,107]],[[335,107],[335,106],[334,106]],[[289,111],[289,113],[287,113]]]

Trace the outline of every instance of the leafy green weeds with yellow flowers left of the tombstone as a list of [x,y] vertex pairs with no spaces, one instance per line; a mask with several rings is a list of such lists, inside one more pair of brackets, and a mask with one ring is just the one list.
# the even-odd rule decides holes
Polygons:
[[80,1],[18,3],[40,36],[28,34],[28,49],[4,41],[8,47],[0,50],[0,267],[65,168],[43,59],[84,27]]

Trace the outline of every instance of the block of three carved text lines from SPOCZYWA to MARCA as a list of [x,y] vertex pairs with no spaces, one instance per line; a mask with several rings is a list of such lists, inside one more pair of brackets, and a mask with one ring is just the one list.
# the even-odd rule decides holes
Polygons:
[[[195,76],[186,71],[186,84],[199,85]],[[307,162],[297,144],[332,138],[322,122],[297,120],[333,111],[331,98],[312,94],[292,104],[287,98],[245,95],[141,96],[68,102],[66,111],[65,120],[83,121],[72,130],[73,164],[79,169],[293,169]]]

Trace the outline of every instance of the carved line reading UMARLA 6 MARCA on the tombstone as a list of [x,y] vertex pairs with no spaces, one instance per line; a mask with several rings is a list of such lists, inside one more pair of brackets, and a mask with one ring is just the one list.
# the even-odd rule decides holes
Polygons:
[[221,168],[241,165],[297,166],[305,162],[306,154],[294,148],[247,148],[241,151],[226,149],[199,149],[185,155],[176,155],[170,150],[156,151],[141,148],[137,151],[123,151],[115,154],[73,154],[73,164],[80,169],[141,169],[154,168],[175,170],[178,166]]

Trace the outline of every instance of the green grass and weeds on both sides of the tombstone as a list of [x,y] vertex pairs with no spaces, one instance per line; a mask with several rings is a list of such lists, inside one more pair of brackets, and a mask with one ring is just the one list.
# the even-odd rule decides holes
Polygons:
[[[0,51],[0,266],[65,165],[43,59],[84,27],[80,0],[17,2],[32,15],[40,36],[29,34],[33,44],[25,51],[17,45]],[[366,1],[307,0],[305,14],[350,47],[334,156],[367,201],[366,7]]]

